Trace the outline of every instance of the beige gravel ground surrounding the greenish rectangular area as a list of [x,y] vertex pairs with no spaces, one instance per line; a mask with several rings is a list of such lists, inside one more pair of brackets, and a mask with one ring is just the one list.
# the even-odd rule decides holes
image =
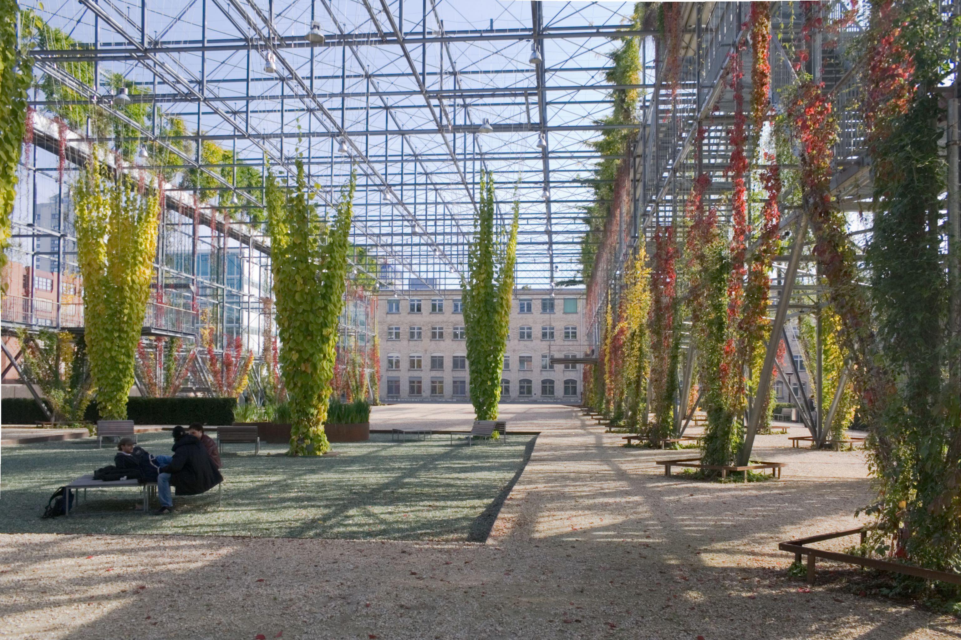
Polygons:
[[[469,423],[469,411],[399,405],[374,420]],[[758,457],[790,463],[781,482],[703,484],[652,464],[690,452],[621,447],[571,409],[502,416],[542,434],[485,544],[0,535],[0,637],[961,635],[955,618],[854,595],[847,569],[825,564],[810,590],[786,576],[777,541],[848,528],[870,499],[860,453],[764,436]]]

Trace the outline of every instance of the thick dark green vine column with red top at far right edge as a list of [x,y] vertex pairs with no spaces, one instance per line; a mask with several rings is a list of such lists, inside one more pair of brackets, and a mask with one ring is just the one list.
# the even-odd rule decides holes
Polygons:
[[[867,249],[872,311],[890,392],[875,421],[870,463],[877,545],[932,569],[961,567],[961,408],[946,374],[948,283],[939,225],[946,163],[938,86],[951,38],[936,3],[881,0],[862,41],[864,119],[874,177]],[[961,589],[945,585],[952,598]]]

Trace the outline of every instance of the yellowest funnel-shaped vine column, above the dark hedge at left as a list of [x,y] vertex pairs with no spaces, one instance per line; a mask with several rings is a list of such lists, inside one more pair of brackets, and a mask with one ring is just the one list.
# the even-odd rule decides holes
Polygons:
[[136,345],[150,295],[160,203],[92,158],[73,185],[84,322],[97,404],[105,419],[127,416]]

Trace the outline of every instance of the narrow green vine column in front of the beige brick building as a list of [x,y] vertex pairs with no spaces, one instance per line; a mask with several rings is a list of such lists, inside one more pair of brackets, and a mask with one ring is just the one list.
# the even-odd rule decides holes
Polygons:
[[479,212],[474,219],[474,240],[467,253],[468,275],[460,281],[467,362],[471,367],[471,402],[479,420],[495,419],[501,399],[520,217],[520,203],[514,201],[513,222],[509,229],[498,233],[494,228],[494,208],[494,177],[481,173]]

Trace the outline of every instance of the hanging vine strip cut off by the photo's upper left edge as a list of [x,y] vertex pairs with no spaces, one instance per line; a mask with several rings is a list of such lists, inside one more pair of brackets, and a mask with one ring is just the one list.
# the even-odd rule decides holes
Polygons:
[[16,39],[16,0],[0,0],[0,269],[7,265],[16,165],[23,148],[33,60]]

